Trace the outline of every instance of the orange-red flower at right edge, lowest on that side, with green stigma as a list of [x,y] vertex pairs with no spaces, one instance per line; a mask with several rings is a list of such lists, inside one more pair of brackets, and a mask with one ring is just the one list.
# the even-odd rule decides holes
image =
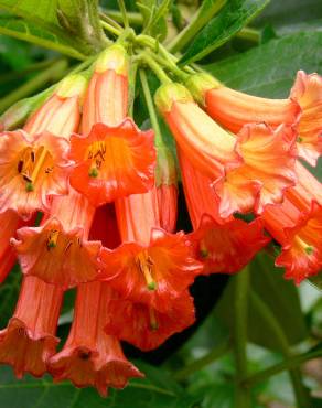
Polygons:
[[276,265],[286,268],[286,278],[300,283],[322,267],[321,183],[297,164],[298,183],[280,205],[268,205],[262,213],[265,227],[281,245]]

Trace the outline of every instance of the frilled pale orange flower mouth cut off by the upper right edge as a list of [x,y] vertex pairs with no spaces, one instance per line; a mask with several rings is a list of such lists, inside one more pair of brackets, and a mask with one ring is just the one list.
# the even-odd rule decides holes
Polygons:
[[299,155],[315,165],[322,153],[322,77],[299,71],[290,97],[302,109],[297,125]]

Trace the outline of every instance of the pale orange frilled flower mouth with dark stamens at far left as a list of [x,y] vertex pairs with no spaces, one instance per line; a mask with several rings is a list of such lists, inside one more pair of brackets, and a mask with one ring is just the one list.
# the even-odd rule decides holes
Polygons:
[[24,131],[0,137],[0,213],[15,211],[29,218],[47,211],[50,197],[68,191],[72,162],[64,138],[44,131],[30,137]]

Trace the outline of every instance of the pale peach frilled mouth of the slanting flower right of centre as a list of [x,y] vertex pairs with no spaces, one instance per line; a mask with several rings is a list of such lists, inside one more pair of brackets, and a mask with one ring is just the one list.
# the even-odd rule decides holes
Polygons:
[[[261,213],[267,204],[283,200],[285,191],[297,182],[296,132],[283,125],[272,130],[265,124],[246,125],[237,135],[236,150],[244,164],[214,184],[221,197],[219,212]],[[250,185],[250,193],[243,185]],[[251,189],[253,192],[251,192]]]

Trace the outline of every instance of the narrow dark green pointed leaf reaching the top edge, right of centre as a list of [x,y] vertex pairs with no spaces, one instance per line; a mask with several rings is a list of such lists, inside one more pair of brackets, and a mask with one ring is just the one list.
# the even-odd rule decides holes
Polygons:
[[196,35],[180,63],[187,64],[200,61],[226,43],[243,26],[247,25],[268,2],[269,0],[228,1],[222,11]]

